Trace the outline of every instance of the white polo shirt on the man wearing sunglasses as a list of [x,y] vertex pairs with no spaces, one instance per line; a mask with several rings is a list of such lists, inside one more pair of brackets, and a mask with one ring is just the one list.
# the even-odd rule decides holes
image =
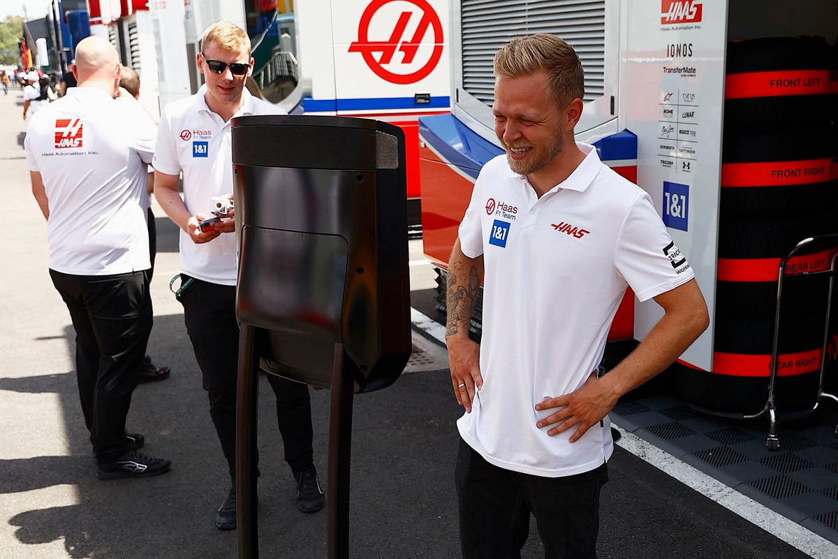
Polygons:
[[[233,191],[230,122],[209,110],[206,91],[203,85],[194,96],[169,103],[163,109],[153,162],[161,173],[184,172],[184,204],[191,215],[211,215],[210,199]],[[257,99],[247,90],[241,95],[244,103],[233,117],[286,114],[281,107]],[[197,245],[181,230],[181,271],[204,282],[235,285],[235,249],[235,235],[225,233]]]

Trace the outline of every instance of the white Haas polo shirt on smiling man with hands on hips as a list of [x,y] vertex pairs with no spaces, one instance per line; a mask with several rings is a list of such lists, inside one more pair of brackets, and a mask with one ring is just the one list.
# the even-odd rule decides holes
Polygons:
[[628,286],[639,300],[693,272],[649,194],[586,158],[541,199],[506,155],[486,163],[459,228],[463,253],[484,257],[484,385],[457,424],[463,440],[499,468],[544,477],[581,474],[613,452],[608,418],[576,443],[535,422],[547,398],[575,391],[602,360]]

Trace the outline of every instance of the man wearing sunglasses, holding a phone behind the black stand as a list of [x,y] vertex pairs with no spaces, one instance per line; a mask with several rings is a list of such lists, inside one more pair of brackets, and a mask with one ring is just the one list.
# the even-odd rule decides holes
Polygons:
[[[222,530],[235,528],[235,389],[239,325],[235,317],[235,214],[201,228],[211,217],[212,198],[232,198],[230,119],[233,116],[282,114],[284,111],[246,91],[253,71],[251,42],[229,22],[204,31],[197,55],[205,84],[187,99],[170,103],[160,116],[154,154],[154,194],[181,229],[181,288],[184,322],[209,394],[209,415],[230,468],[232,487],[215,514]],[[184,173],[184,198],[178,174]],[[285,459],[297,480],[297,507],[323,508],[313,463],[308,386],[268,375],[277,396],[277,420]]]

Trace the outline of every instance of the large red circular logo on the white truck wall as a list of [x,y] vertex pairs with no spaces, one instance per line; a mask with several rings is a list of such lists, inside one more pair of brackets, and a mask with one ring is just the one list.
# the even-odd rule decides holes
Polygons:
[[[381,39],[385,40],[371,39],[370,23],[372,23],[376,13],[379,13],[380,8],[390,3],[411,3],[418,8],[418,11],[402,11],[396,20],[396,25],[389,39],[385,39],[383,34]],[[379,15],[375,20],[378,22],[385,18],[385,15]],[[408,25],[416,21],[418,23],[415,23],[415,27],[411,25],[413,29],[411,35],[408,32]],[[432,49],[430,48],[431,45],[422,48],[424,46],[422,39],[429,30],[433,32]],[[360,53],[364,57],[366,65],[370,66],[370,70],[382,80],[406,85],[414,84],[431,74],[442,58],[442,44],[442,23],[431,4],[427,3],[427,0],[373,0],[361,15],[358,23],[358,40],[349,45],[349,52]],[[421,60],[417,59],[416,54],[422,51],[422,55],[424,55],[427,50],[430,50],[428,60],[419,66]],[[401,60],[394,60],[396,59],[396,52],[401,52]],[[375,54],[379,54],[377,59]],[[396,70],[400,65],[401,70],[405,70],[406,73],[391,71]],[[416,69],[416,66],[419,66],[418,69]]]

